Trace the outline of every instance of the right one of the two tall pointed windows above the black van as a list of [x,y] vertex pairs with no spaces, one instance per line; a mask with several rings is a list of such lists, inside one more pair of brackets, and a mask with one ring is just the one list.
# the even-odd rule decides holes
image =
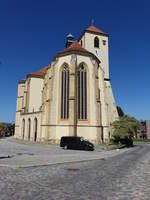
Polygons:
[[78,80],[78,119],[87,119],[87,72],[82,64],[77,73]]

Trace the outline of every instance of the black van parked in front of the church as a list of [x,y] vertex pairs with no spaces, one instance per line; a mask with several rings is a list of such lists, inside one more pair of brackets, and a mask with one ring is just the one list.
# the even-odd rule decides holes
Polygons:
[[64,149],[76,149],[93,151],[94,145],[83,137],[63,136],[60,140],[60,147]]

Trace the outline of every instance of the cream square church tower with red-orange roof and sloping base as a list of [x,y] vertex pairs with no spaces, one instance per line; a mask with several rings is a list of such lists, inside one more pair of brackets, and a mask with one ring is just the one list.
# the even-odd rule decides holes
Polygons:
[[109,116],[108,123],[109,125],[111,125],[113,121],[118,119],[118,112],[116,109],[116,103],[109,79],[108,34],[103,32],[101,29],[91,25],[84,30],[78,41],[83,48],[93,53],[100,60],[100,66],[104,71],[104,82],[106,87],[106,107]]

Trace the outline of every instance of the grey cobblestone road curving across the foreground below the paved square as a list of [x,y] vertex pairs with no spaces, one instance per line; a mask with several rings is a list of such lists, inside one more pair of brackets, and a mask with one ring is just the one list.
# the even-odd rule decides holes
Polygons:
[[101,151],[103,157],[85,162],[1,166],[0,200],[149,200],[150,145],[109,152],[112,156]]

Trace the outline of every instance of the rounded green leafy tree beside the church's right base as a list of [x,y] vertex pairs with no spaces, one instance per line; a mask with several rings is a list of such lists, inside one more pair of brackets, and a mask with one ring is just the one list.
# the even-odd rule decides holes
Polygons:
[[141,123],[134,117],[124,115],[113,122],[112,140],[115,143],[133,143],[137,130],[142,129]]

